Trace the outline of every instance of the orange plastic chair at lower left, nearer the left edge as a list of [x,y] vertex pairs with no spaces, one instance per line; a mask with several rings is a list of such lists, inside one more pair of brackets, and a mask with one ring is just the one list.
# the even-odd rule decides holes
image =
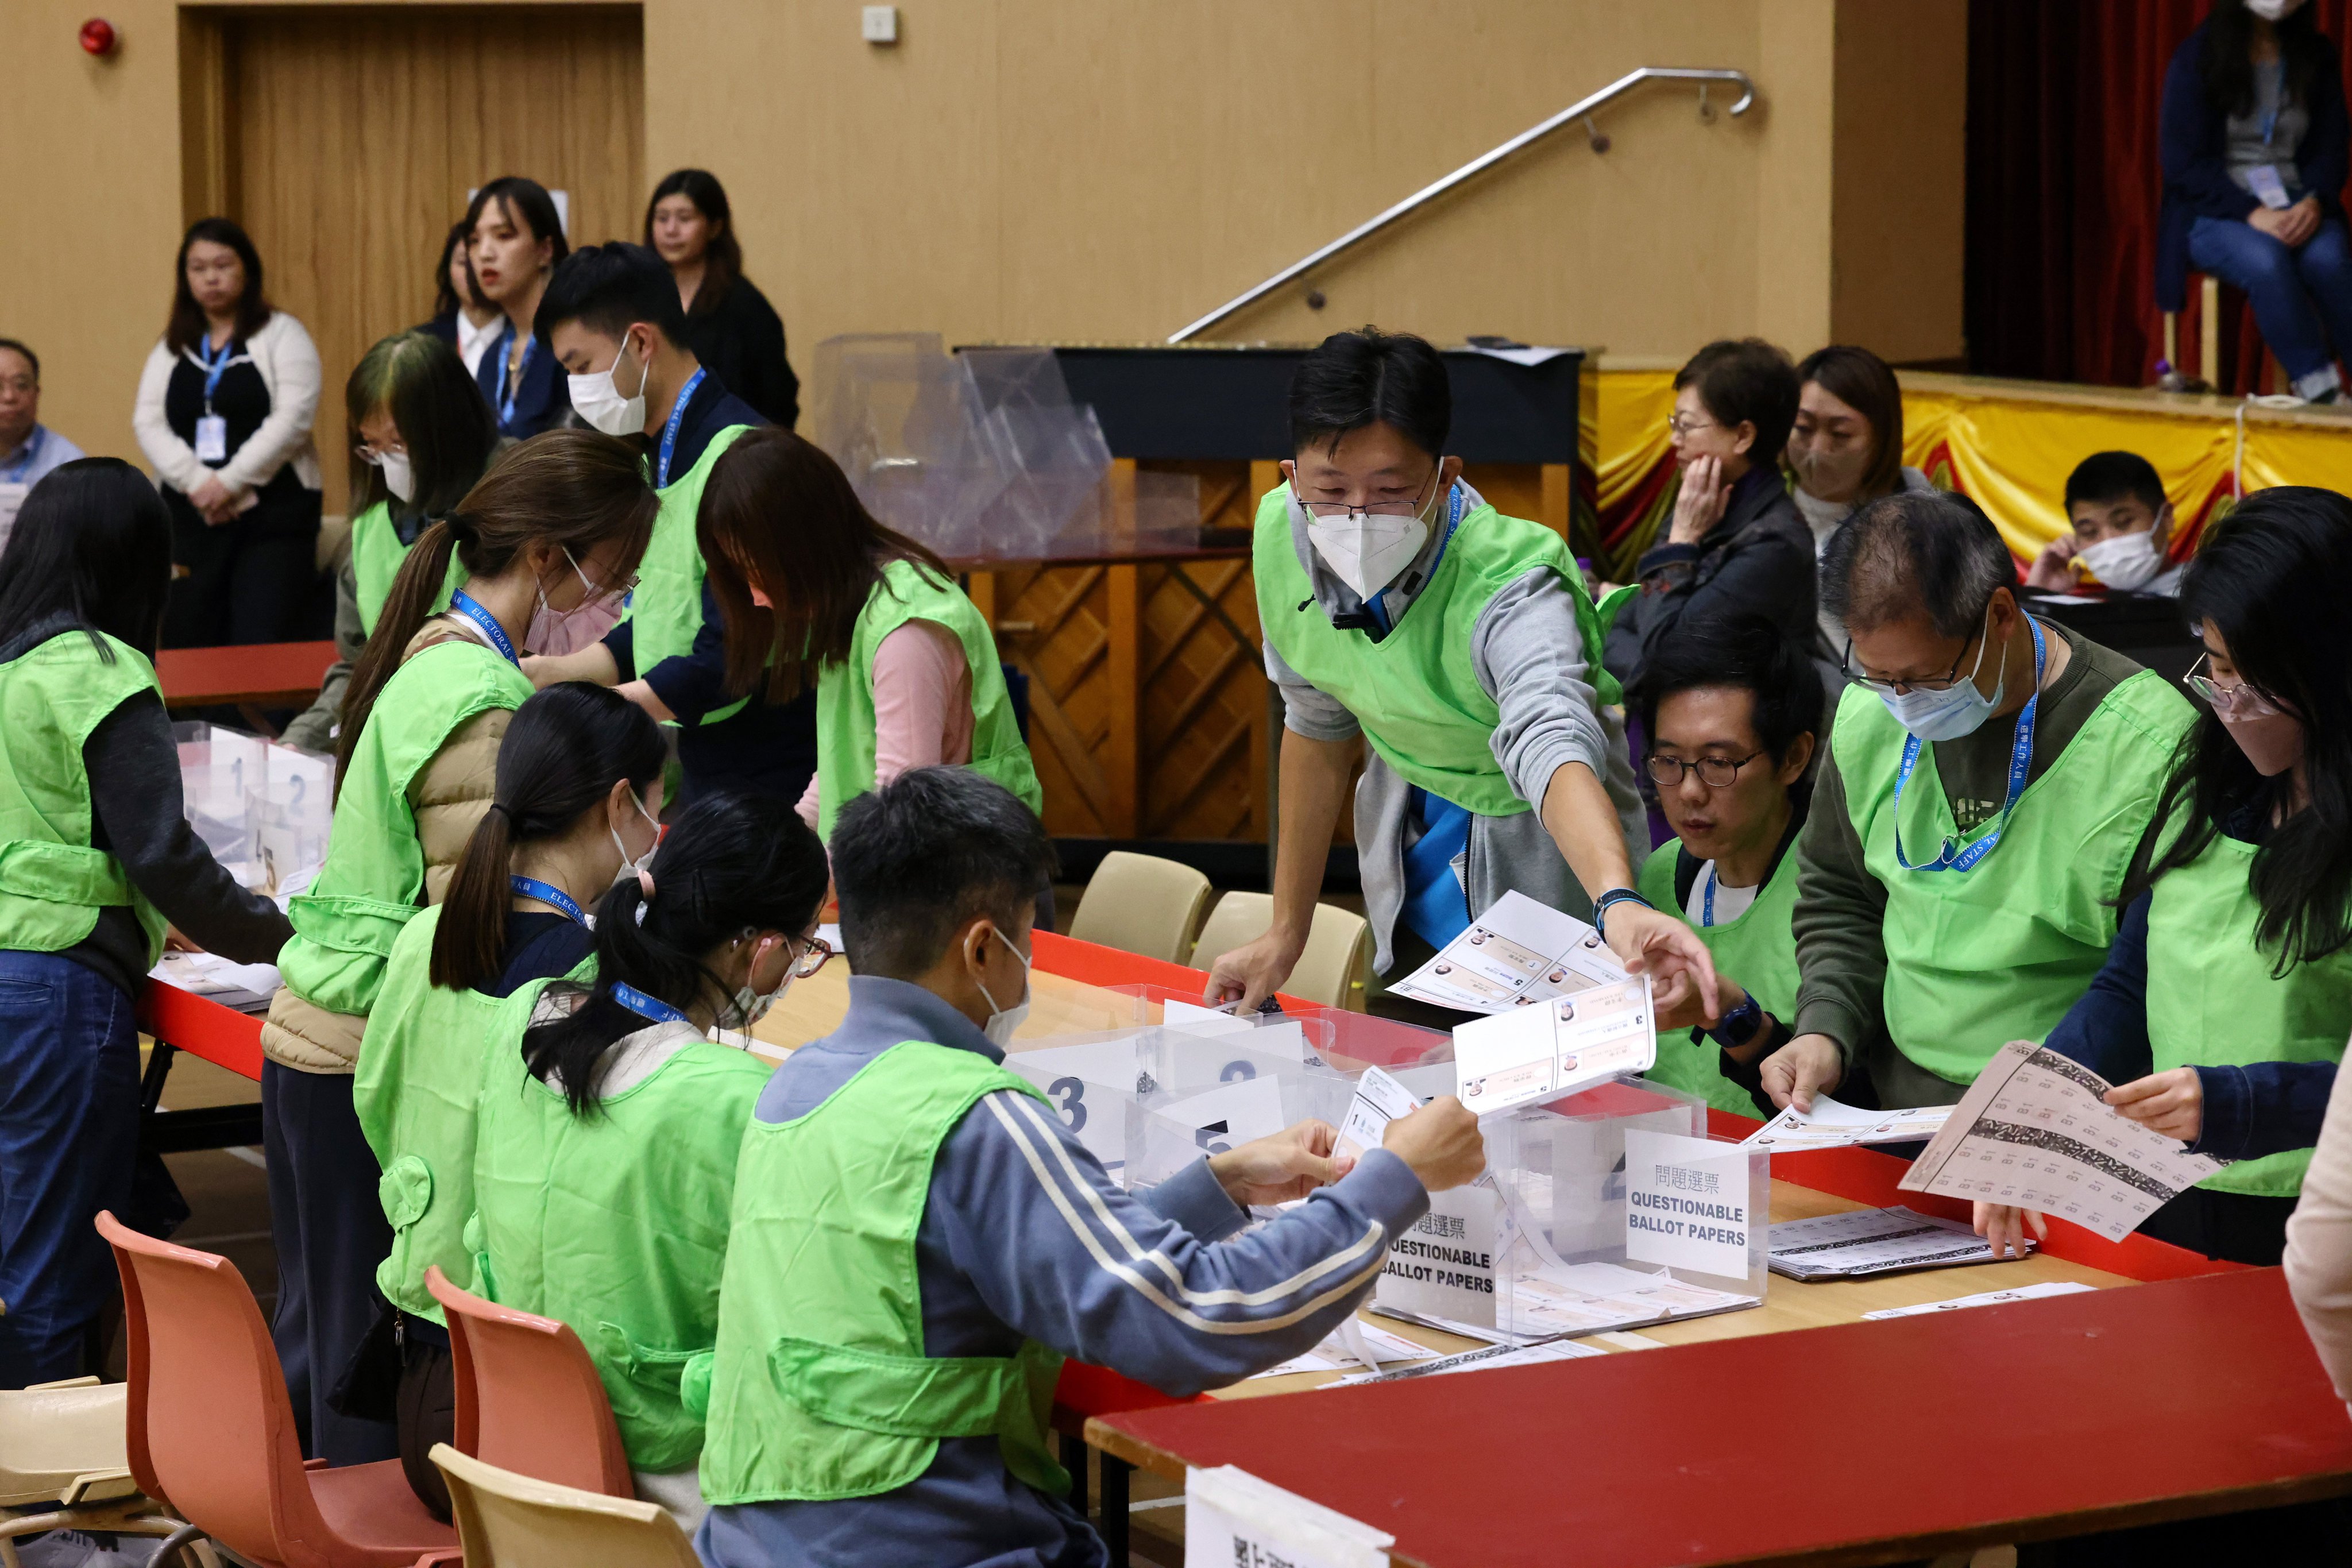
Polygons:
[[327,1469],[294,1439],[285,1368],[228,1258],[155,1241],[99,1213],[122,1272],[132,1479],[261,1568],[459,1563],[400,1460]]

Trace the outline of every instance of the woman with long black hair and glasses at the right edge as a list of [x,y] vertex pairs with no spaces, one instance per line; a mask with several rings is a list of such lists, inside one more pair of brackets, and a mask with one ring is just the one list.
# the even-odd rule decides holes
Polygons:
[[[2140,1222],[2267,1267],[2352,1034],[2352,501],[2279,487],[2216,524],[2180,583],[2211,703],[2171,759],[2091,990],[2044,1046],[2133,1121],[2237,1161]],[[1994,1253],[2020,1211],[1978,1204]],[[2042,1215],[2025,1213],[2042,1234]]]

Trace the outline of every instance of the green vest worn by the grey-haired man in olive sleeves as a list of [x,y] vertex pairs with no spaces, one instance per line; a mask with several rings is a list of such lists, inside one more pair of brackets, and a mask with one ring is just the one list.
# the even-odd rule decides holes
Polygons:
[[[1886,1032],[1903,1056],[1950,1084],[1971,1084],[2011,1039],[2058,1027],[2107,959],[2117,922],[2107,900],[2124,884],[2192,717],[2171,682],[2140,670],[2025,785],[1990,856],[1966,872],[1910,872],[1896,863],[1893,813],[1905,731],[1875,693],[1846,686],[1830,755],[1863,863],[1886,891]],[[1919,748],[1903,818],[1915,858],[1959,837],[1933,743]]]

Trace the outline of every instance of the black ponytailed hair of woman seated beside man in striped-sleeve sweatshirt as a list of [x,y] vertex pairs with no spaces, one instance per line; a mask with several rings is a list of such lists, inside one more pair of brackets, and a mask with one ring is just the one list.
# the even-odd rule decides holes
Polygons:
[[616,983],[680,1011],[710,1001],[722,1025],[743,1023],[706,959],[746,929],[802,936],[826,903],[826,846],[771,795],[696,799],[663,835],[652,875],[652,898],[623,877],[597,905],[595,987],[550,985],[550,997],[579,1006],[522,1032],[524,1065],[581,1117],[597,1103],[597,1058],[647,1025],[614,1001]]

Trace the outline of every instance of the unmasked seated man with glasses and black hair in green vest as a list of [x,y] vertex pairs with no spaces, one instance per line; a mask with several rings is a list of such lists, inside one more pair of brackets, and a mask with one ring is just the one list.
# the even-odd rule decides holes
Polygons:
[[[1651,790],[1675,839],[1642,865],[1642,896],[1679,910],[1715,954],[1722,1018],[1698,997],[1658,1018],[1646,1077],[1717,1110],[1769,1112],[1757,1065],[1797,1016],[1797,832],[1820,724],[1809,649],[1762,616],[1693,616],[1658,644],[1635,686]],[[1672,1034],[1696,1025],[1689,1034]]]

